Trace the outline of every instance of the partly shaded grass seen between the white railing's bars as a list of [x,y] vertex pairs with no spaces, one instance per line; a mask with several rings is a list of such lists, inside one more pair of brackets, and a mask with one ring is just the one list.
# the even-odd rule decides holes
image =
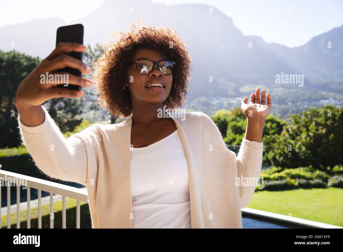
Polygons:
[[[54,202],[54,228],[62,228],[62,201]],[[88,203],[80,201],[80,228],[90,228]],[[76,228],[76,200],[66,198],[66,226]],[[38,228],[38,207],[31,208],[31,228]],[[16,228],[17,213],[11,213],[11,228]],[[1,228],[7,228],[7,215],[1,216]],[[27,210],[20,211],[20,228],[27,228]],[[42,228],[50,228],[50,204],[42,205]]]

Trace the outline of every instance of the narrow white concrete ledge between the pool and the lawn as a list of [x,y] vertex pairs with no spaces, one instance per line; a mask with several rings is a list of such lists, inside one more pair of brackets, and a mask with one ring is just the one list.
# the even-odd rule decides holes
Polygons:
[[243,209],[241,209],[241,211],[242,211],[242,213],[245,213],[247,215],[253,215],[256,217],[267,218],[267,219],[271,219],[271,220],[277,220],[279,222],[284,222],[284,223],[302,225],[305,228],[306,227],[308,227],[308,228],[343,228],[340,226],[321,223],[318,221],[306,220],[306,219],[296,218],[296,217],[287,216],[287,215],[283,215],[283,214],[275,214],[275,213],[271,213],[271,212],[267,212],[267,211],[249,208],[249,207],[243,208]]

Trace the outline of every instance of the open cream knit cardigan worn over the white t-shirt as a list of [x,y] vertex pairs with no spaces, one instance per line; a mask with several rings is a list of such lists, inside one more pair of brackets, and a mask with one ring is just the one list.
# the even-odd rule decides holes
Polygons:
[[[132,117],[117,124],[93,124],[66,139],[42,108],[45,120],[38,126],[24,125],[20,115],[17,119],[37,167],[52,178],[87,186],[92,228],[131,228]],[[241,181],[259,177],[263,143],[243,139],[236,157],[207,115],[184,116],[172,118],[188,162],[191,227],[242,228],[241,208],[248,205],[256,184]]]

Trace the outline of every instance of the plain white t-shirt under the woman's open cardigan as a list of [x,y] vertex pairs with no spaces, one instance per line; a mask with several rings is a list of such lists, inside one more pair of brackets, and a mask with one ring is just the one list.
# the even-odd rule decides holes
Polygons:
[[191,228],[188,165],[178,130],[131,149],[132,228]]

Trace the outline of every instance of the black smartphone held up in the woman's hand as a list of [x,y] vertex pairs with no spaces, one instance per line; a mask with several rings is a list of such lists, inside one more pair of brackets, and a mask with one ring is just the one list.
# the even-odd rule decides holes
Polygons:
[[[56,46],[60,42],[67,42],[67,43],[79,43],[83,45],[83,25],[82,24],[73,24],[67,26],[61,26],[57,29],[56,35]],[[66,52],[66,55],[74,57],[75,59],[81,60],[83,57],[83,52]],[[70,74],[74,74],[77,76],[82,77],[82,73],[78,69],[65,67],[63,69],[59,69],[58,72],[68,72]],[[57,87],[66,87],[69,89],[81,90],[81,86],[68,84],[68,86],[64,86],[64,84],[59,84]]]

